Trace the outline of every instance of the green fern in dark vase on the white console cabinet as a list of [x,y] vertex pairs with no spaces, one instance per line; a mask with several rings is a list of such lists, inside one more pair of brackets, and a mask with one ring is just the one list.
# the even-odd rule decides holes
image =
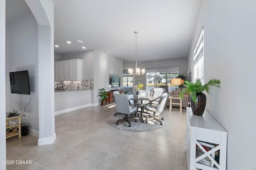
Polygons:
[[205,90],[209,94],[209,86],[220,87],[220,80],[211,79],[205,85],[202,85],[200,79],[197,79],[195,83],[190,81],[184,81],[185,88],[180,92],[180,99],[183,98],[183,94],[188,92],[190,95],[190,105],[192,113],[194,115],[202,116],[206,107],[206,95],[203,93]]

